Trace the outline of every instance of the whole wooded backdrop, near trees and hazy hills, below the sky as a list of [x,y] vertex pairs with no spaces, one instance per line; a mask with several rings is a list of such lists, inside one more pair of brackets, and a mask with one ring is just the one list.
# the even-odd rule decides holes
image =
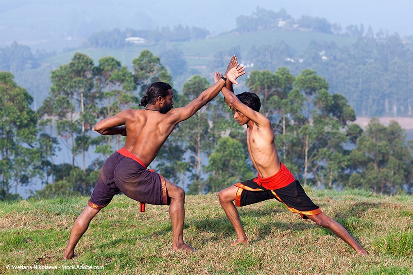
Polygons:
[[[285,23],[280,24],[279,16],[284,16],[281,21]],[[147,84],[158,80],[182,83],[174,84],[176,104],[182,106],[210,85],[210,74],[205,71],[222,68],[234,53],[248,67],[240,88],[261,98],[261,112],[274,123],[280,158],[302,183],[384,194],[412,192],[412,143],[405,141],[405,131],[397,123],[380,125],[377,119],[364,131],[350,124],[356,114],[411,115],[409,39],[374,33],[371,28],[365,32],[362,26],[342,31],[320,18],[293,20],[284,11],[262,9],[248,18],[239,17],[236,30],[216,37],[207,37],[206,30],[182,26],[162,31],[170,34],[147,31],[146,45],[140,46],[121,42],[125,35],[143,36],[143,31],[100,32],[84,45],[89,48],[82,48],[119,53],[169,45],[158,55],[140,50],[131,65],[109,55],[96,63],[81,53],[82,49],[67,51],[70,60],[66,64],[47,64],[45,61],[59,54],[33,53],[17,43],[1,49],[1,70],[9,71],[1,73],[1,199],[18,198],[13,192],[17,185],[30,184],[34,178],[45,186],[34,194],[38,197],[89,194],[102,161],[122,142],[93,135],[91,129],[98,119],[137,108]],[[242,35],[259,37],[263,33],[290,34],[286,37],[322,33],[323,38],[344,37],[346,43],[338,46],[338,42],[310,39],[302,51],[297,51],[291,40],[282,39],[250,48],[241,43],[223,44],[242,41]],[[151,35],[161,40],[151,39]],[[165,40],[171,37],[180,38]],[[96,41],[107,43],[92,44]],[[197,59],[206,60],[204,65],[190,64],[193,59],[184,49],[193,49],[194,43],[211,45],[211,41],[221,47],[207,47],[206,53],[199,53]],[[202,48],[198,49],[201,52]],[[216,192],[254,177],[243,130],[231,122],[226,110],[218,98],[180,125],[157,157],[156,171],[192,194]],[[53,163],[60,149],[70,152],[71,163]],[[87,164],[89,150],[102,157]],[[75,165],[75,156],[83,157],[81,165]],[[202,161],[205,159],[207,163]]]

